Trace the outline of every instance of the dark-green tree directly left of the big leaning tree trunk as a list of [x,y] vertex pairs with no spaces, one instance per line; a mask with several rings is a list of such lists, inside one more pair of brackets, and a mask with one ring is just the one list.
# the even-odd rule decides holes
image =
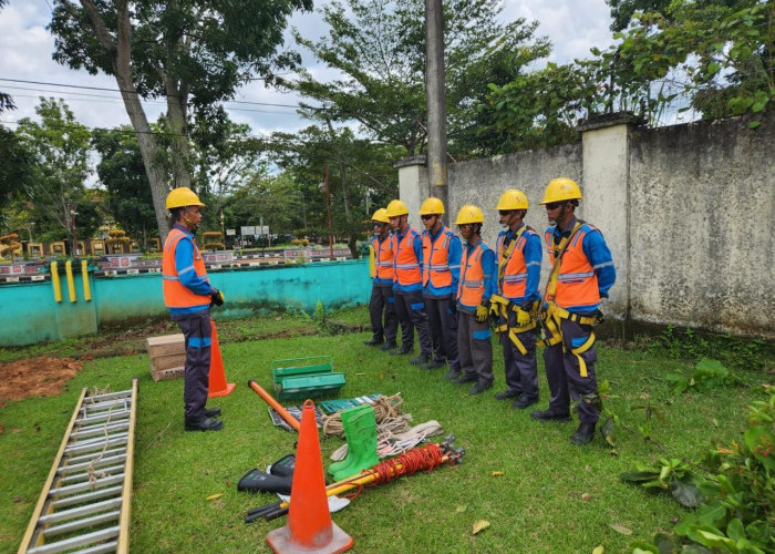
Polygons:
[[121,228],[137,237],[147,252],[156,218],[137,135],[127,125],[96,130],[92,145],[100,154],[96,172],[107,191],[107,209]]

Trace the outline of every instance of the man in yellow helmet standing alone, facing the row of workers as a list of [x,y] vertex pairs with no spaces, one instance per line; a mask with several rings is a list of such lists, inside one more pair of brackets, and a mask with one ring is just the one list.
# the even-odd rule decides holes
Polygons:
[[183,386],[186,431],[219,431],[219,408],[206,409],[210,372],[210,307],[223,306],[224,295],[210,285],[194,235],[205,205],[186,187],[167,195],[173,228],[164,243],[162,276],[164,304],[186,339]]

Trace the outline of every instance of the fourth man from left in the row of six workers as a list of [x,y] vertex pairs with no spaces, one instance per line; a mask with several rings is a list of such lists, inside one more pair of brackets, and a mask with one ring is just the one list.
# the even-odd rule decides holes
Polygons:
[[[465,205],[455,220],[465,240],[457,286],[457,352],[461,373],[455,382],[476,382],[471,394],[493,386],[493,342],[489,331],[489,298],[495,280],[495,254],[482,242],[484,214],[476,206]],[[445,379],[455,377],[451,369]]]

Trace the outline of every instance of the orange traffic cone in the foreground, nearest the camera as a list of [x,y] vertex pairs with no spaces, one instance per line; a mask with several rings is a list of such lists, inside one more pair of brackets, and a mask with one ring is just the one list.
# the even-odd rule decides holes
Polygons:
[[270,531],[267,542],[279,554],[334,554],[352,548],[352,537],[331,521],[314,402],[311,400],[304,401],[301,410],[288,523]]

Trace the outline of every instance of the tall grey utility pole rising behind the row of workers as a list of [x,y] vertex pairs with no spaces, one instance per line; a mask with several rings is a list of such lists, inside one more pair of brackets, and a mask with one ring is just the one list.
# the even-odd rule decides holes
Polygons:
[[425,95],[428,192],[440,198],[448,209],[442,0],[425,0]]

